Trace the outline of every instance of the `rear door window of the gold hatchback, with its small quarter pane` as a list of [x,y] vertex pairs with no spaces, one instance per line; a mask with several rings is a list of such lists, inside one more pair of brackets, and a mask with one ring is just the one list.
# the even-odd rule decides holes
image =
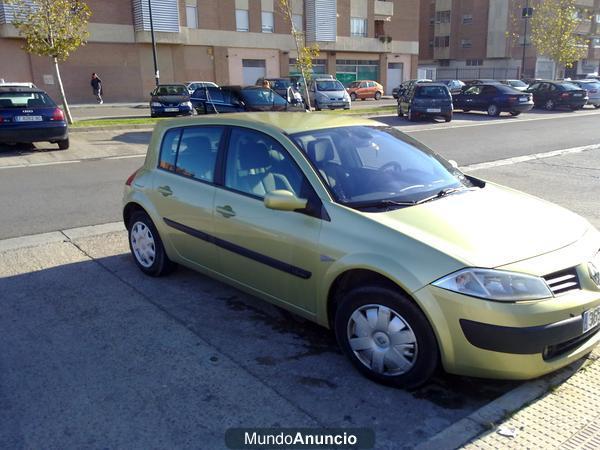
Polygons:
[[159,167],[196,180],[212,182],[224,127],[186,127],[167,131]]

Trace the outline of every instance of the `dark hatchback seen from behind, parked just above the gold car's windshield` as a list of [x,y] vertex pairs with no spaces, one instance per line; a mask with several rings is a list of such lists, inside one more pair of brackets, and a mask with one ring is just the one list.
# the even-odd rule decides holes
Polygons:
[[411,122],[420,117],[443,117],[452,120],[452,95],[442,83],[413,84],[398,99],[398,117],[406,114]]

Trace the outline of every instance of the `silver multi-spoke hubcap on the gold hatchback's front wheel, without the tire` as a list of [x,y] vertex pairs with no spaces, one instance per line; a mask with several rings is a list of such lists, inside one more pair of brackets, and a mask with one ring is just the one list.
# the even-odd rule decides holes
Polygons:
[[387,306],[357,308],[348,319],[347,337],[356,358],[377,374],[401,375],[417,361],[417,338],[412,328]]

